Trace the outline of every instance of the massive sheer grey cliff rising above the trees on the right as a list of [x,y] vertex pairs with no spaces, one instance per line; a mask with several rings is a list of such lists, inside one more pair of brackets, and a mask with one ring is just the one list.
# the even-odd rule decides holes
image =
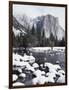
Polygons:
[[57,37],[58,40],[62,40],[64,37],[64,30],[59,25],[59,21],[57,17],[52,15],[40,16],[33,20],[34,27],[37,30],[40,30],[40,34],[42,36],[43,32],[46,38],[50,37],[52,33],[53,36]]

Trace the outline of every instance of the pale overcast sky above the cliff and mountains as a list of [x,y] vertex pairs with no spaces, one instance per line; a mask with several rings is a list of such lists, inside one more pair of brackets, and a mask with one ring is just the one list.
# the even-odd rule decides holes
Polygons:
[[13,15],[26,14],[30,18],[51,14],[59,18],[59,24],[65,29],[65,8],[51,6],[13,5]]

